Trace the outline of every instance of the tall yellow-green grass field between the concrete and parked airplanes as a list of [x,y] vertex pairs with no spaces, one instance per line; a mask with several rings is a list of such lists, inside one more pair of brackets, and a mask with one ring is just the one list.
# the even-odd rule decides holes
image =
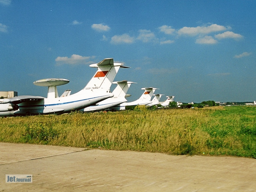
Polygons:
[[256,107],[0,118],[0,142],[256,158]]

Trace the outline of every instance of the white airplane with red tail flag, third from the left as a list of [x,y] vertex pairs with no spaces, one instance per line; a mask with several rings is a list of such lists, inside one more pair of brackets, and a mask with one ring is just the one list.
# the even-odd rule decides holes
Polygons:
[[133,106],[133,105],[147,105],[152,103],[151,97],[153,96],[155,90],[157,88],[149,87],[149,88],[142,88],[142,90],[145,90],[144,93],[140,96],[139,99],[133,101],[124,103],[124,106]]

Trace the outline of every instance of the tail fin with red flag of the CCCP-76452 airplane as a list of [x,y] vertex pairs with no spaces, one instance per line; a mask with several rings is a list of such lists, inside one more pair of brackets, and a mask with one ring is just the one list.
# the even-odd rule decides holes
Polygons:
[[83,90],[109,89],[122,63],[114,63],[113,58],[107,58],[97,64],[91,64],[90,67],[97,67],[97,72]]

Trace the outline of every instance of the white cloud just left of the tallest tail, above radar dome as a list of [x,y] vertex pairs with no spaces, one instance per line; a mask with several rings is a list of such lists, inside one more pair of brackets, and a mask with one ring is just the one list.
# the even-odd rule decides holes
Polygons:
[[83,57],[80,55],[73,54],[70,58],[68,57],[57,57],[55,61],[57,64],[90,64],[92,63],[89,59],[93,59],[95,56]]

